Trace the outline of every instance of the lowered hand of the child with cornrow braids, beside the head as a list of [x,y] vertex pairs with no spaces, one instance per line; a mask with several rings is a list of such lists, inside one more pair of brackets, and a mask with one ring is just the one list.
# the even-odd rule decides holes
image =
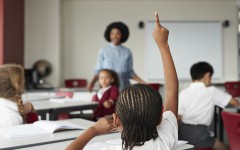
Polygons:
[[99,119],[91,128],[96,132],[97,135],[113,132],[116,130],[113,125],[112,116],[105,116]]

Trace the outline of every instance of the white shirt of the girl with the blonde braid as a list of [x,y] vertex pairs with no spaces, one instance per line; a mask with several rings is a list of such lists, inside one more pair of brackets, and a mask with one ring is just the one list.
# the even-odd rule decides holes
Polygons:
[[5,98],[0,98],[0,127],[23,124],[17,104]]

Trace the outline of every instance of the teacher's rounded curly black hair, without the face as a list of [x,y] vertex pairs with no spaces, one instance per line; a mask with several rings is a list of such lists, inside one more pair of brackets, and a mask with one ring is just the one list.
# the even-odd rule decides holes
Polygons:
[[111,24],[109,24],[104,33],[104,37],[108,42],[111,42],[110,33],[112,29],[118,29],[122,33],[121,43],[127,41],[129,37],[129,30],[126,24],[124,24],[123,22],[112,22]]

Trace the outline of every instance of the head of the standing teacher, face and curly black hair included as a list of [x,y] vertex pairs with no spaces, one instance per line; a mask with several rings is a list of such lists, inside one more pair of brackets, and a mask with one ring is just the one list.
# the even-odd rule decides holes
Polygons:
[[119,45],[127,41],[129,36],[128,27],[122,22],[113,22],[109,24],[104,33],[104,37],[108,42]]

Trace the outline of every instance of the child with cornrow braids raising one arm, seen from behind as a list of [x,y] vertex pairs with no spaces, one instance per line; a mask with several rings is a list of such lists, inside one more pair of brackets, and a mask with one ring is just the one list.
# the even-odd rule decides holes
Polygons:
[[178,79],[168,45],[168,30],[161,26],[157,13],[153,37],[162,56],[166,101],[151,87],[135,84],[124,89],[117,100],[116,113],[104,117],[74,140],[67,149],[83,149],[96,135],[121,133],[123,149],[174,150],[177,143]]

